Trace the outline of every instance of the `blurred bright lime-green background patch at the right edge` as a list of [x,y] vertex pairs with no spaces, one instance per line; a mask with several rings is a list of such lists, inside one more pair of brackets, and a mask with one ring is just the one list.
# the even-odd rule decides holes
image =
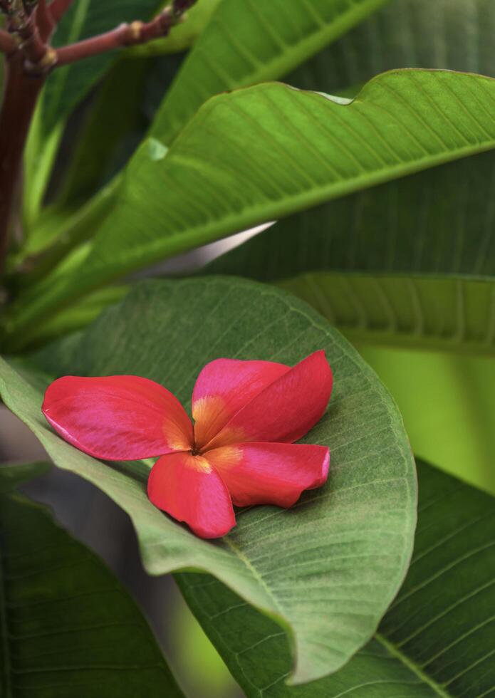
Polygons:
[[399,405],[415,454],[495,494],[495,360],[372,345],[360,351]]

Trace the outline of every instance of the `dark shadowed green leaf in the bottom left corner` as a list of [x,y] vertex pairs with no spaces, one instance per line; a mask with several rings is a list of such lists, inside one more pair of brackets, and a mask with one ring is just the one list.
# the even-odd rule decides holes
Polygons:
[[[0,467],[0,694],[182,697],[113,573],[46,507],[4,494],[15,468]],[[24,479],[30,467],[18,468]]]

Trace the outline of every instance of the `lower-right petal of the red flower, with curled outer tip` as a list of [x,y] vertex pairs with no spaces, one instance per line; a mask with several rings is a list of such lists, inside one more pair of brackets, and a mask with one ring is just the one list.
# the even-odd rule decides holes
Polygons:
[[321,487],[330,452],[306,444],[235,444],[204,454],[222,476],[236,506],[292,506],[305,489]]

